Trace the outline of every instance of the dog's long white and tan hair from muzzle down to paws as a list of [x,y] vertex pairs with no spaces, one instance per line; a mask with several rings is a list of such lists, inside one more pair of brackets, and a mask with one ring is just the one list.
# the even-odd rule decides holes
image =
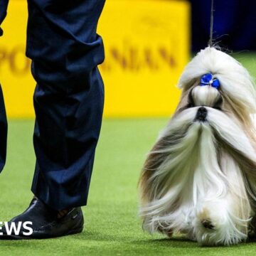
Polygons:
[[[201,107],[176,114],[150,152],[140,215],[150,233],[186,233],[201,245],[231,245],[247,238],[247,190],[256,193],[245,179],[255,179],[256,154],[233,119],[204,108],[204,121],[196,119]],[[250,164],[242,170],[243,161]]]

